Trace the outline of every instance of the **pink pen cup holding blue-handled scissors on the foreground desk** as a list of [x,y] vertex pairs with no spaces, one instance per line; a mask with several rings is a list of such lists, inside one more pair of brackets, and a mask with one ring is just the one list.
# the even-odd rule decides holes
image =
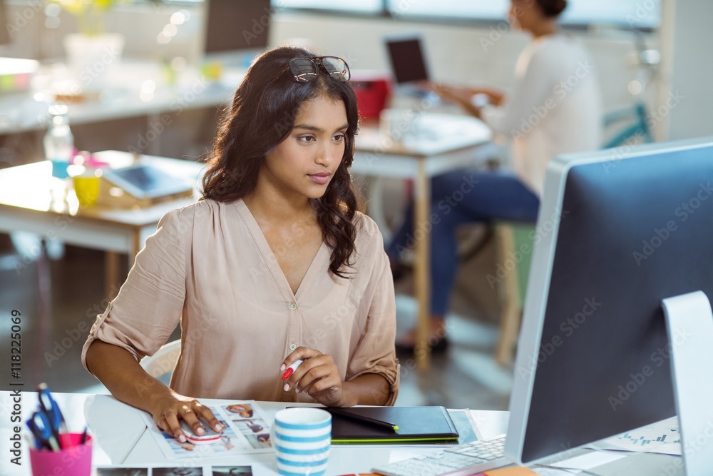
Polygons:
[[91,475],[91,436],[82,445],[82,433],[61,435],[64,445],[71,446],[59,451],[30,449],[32,476],[90,476]]

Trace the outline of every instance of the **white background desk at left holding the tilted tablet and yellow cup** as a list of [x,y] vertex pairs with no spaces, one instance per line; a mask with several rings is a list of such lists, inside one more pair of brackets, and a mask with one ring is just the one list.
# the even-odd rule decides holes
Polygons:
[[[131,160],[128,153],[119,153],[111,163],[122,166]],[[142,156],[142,161],[187,183],[195,183],[202,169],[201,163],[172,158]],[[43,238],[57,238],[71,245],[105,250],[106,295],[109,298],[118,293],[121,284],[118,253],[126,253],[130,267],[146,238],[156,231],[163,214],[195,201],[186,198],[136,209],[79,208],[76,197],[71,195],[66,203],[61,198],[53,200],[52,194],[57,193],[53,192],[53,187],[57,181],[51,176],[51,168],[49,161],[42,161],[0,169],[0,232],[29,231]]]

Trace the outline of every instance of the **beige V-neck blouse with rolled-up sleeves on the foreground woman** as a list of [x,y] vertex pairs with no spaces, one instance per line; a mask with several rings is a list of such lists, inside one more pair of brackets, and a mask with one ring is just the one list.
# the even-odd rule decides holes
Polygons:
[[279,367],[300,345],[334,358],[342,381],[365,373],[399,388],[396,308],[389,261],[371,218],[356,218],[351,279],[329,273],[322,243],[292,293],[250,210],[201,201],[170,211],[136,256],[116,299],[97,316],[94,339],[137,360],[153,353],[180,321],[181,354],[170,386],[182,395],[314,402],[284,392]]

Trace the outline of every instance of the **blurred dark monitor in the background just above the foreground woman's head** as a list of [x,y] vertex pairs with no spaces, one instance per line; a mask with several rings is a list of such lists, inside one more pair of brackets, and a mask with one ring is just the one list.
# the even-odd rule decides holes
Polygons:
[[204,59],[246,66],[267,48],[270,0],[205,0]]

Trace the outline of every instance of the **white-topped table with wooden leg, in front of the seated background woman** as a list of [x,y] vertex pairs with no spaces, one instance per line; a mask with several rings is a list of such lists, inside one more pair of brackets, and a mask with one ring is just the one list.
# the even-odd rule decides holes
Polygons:
[[[352,172],[364,176],[414,179],[414,238],[416,238],[416,300],[419,315],[416,326],[416,365],[429,366],[427,343],[430,311],[430,178],[458,168],[473,166],[476,149],[491,140],[491,129],[470,116],[423,113],[411,135],[394,142],[376,127],[363,126],[356,136]],[[376,221],[379,220],[376,206]]]

